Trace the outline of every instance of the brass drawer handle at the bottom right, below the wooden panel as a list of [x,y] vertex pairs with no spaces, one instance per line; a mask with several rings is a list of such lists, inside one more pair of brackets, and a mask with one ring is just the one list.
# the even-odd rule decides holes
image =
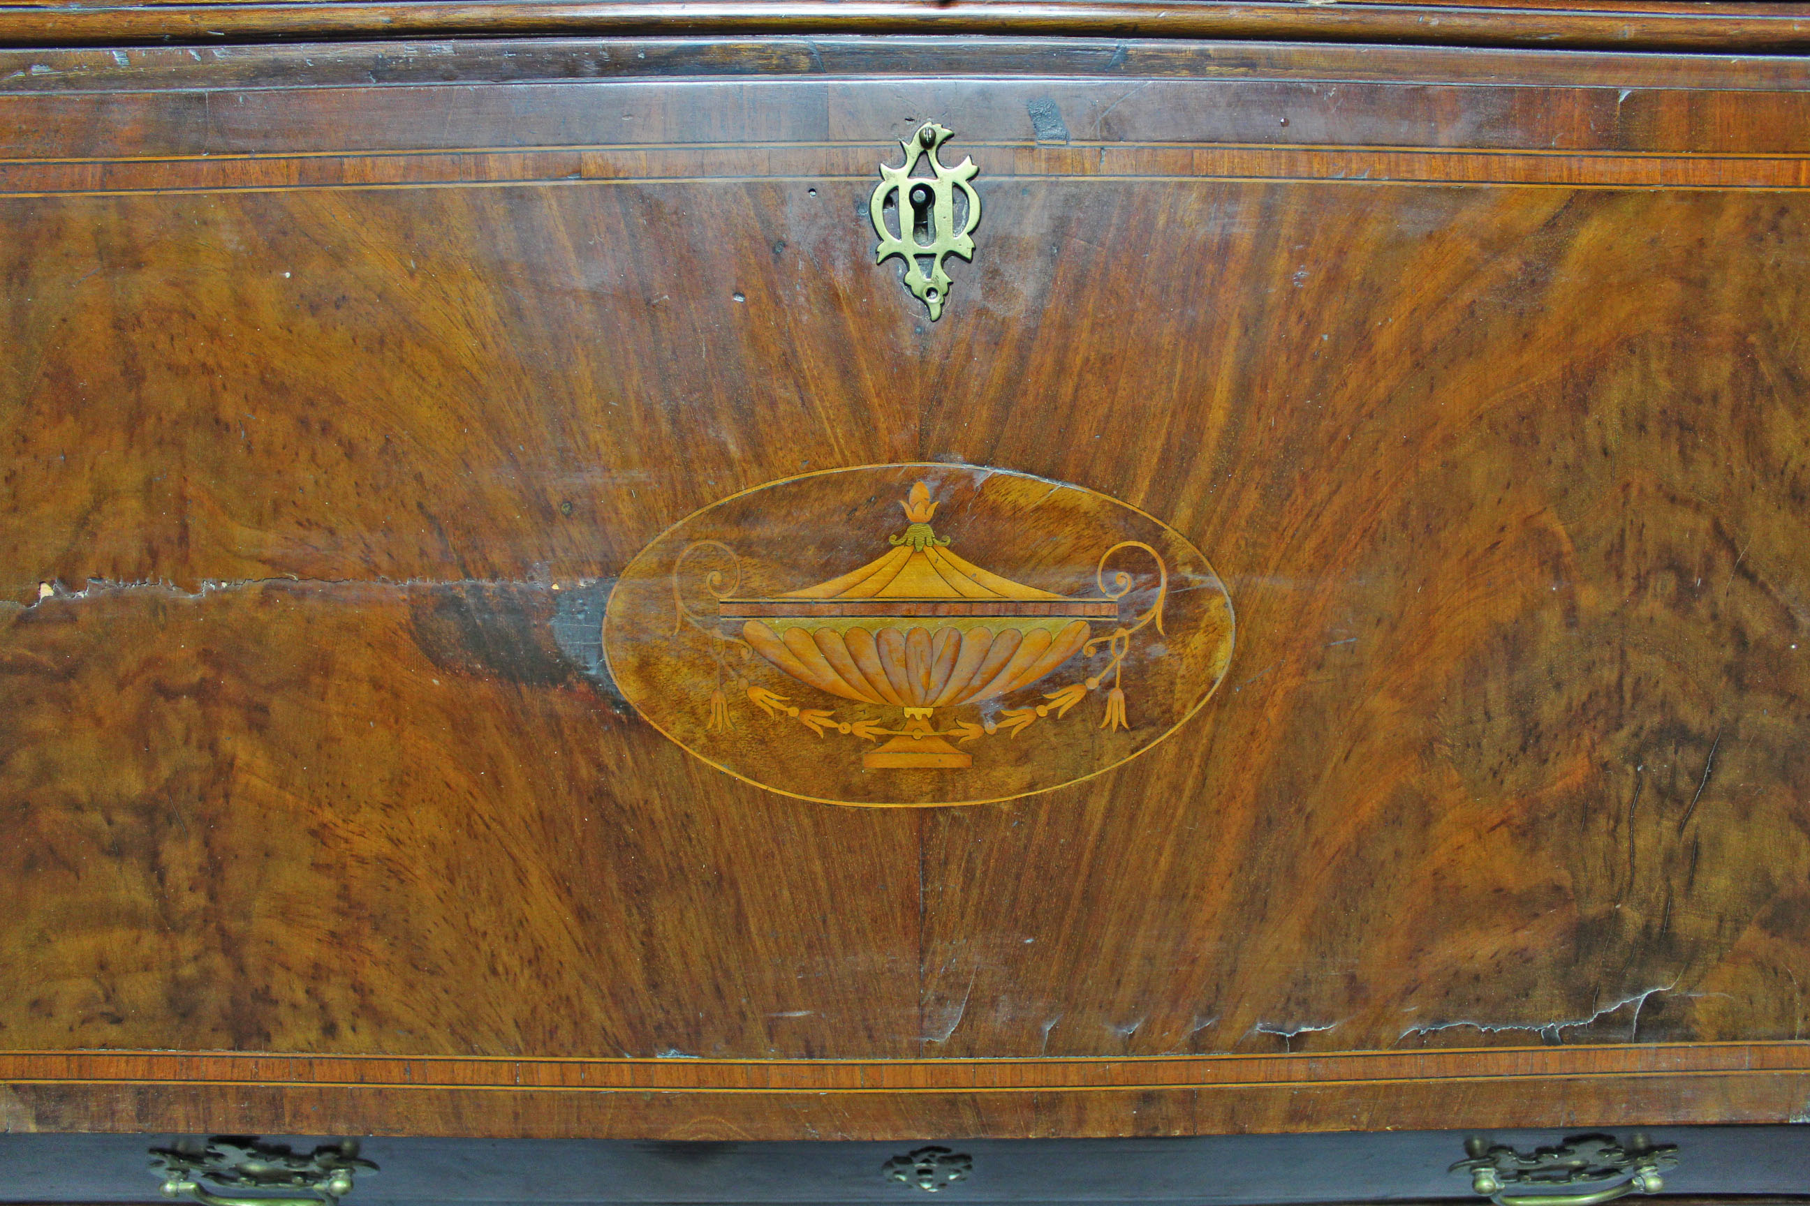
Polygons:
[[[1464,1150],[1470,1159],[1452,1172],[1470,1173],[1472,1190],[1497,1206],[1596,1206],[1629,1193],[1658,1193],[1665,1188],[1660,1170],[1678,1166],[1676,1146],[1654,1145],[1645,1135],[1631,1135],[1625,1146],[1613,1135],[1573,1135],[1526,1155],[1472,1137]],[[1577,1190],[1546,1192],[1569,1186]]]

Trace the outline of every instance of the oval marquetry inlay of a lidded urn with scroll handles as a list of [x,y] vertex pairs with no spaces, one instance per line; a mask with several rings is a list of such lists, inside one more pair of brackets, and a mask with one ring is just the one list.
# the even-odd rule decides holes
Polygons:
[[731,495],[637,555],[603,622],[635,711],[784,796],[923,806],[1100,774],[1225,676],[1205,555],[1010,470],[880,465]]

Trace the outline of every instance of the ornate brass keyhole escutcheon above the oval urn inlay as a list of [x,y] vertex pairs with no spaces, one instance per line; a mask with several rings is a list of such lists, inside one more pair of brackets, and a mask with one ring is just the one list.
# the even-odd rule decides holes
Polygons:
[[[930,322],[943,316],[943,298],[952,284],[943,271],[943,259],[959,255],[974,260],[974,228],[981,224],[981,197],[968,181],[977,166],[972,159],[963,159],[954,168],[945,168],[936,152],[952,137],[952,130],[934,121],[925,121],[918,132],[900,141],[905,150],[901,166],[880,165],[880,184],[867,203],[867,212],[874,219],[874,233],[880,246],[874,248],[874,264],[885,264],[891,257],[905,260],[905,287],[930,307]],[[930,161],[936,175],[918,175],[919,159]],[[956,215],[956,193],[963,197],[963,213]],[[887,208],[892,206],[898,217],[898,233],[887,226]],[[929,266],[929,271],[925,268]]]

